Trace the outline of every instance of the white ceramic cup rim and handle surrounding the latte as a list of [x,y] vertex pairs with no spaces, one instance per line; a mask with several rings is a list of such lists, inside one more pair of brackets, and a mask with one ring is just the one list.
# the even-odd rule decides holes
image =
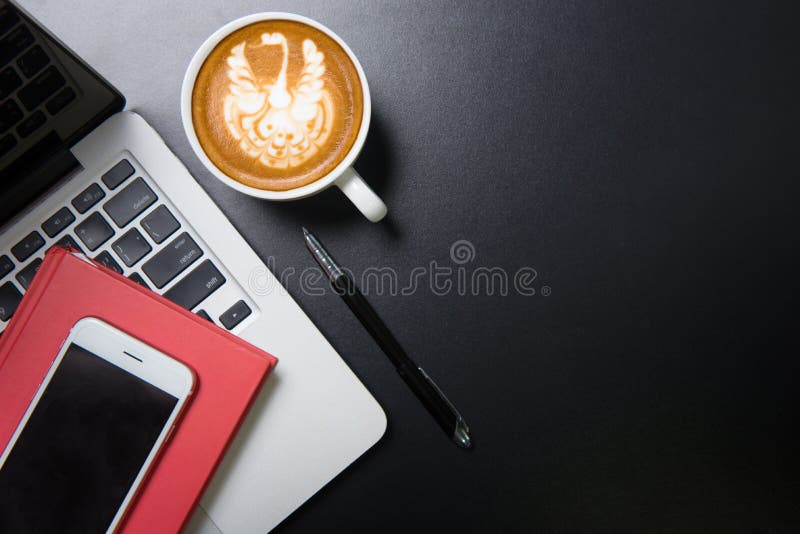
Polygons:
[[[361,119],[361,127],[358,130],[358,135],[350,148],[350,151],[344,159],[337,165],[331,172],[310,184],[306,184],[295,189],[286,191],[270,191],[267,189],[258,189],[255,187],[247,186],[222,172],[214,162],[206,155],[200,141],[197,139],[197,134],[194,130],[192,122],[192,92],[194,83],[197,79],[197,73],[200,71],[206,57],[214,50],[214,47],[222,41],[225,37],[234,31],[264,20],[290,20],[301,22],[316,28],[317,30],[325,33],[328,37],[336,41],[339,46],[347,53],[350,61],[355,65],[358,72],[358,78],[361,80],[361,89],[364,94],[364,109]],[[186,70],[186,75],[183,78],[183,87],[181,88],[181,120],[183,121],[183,128],[186,131],[186,136],[189,138],[189,144],[192,145],[197,157],[208,168],[211,173],[219,178],[224,184],[241,191],[250,196],[258,198],[266,198],[268,200],[295,200],[299,198],[308,197],[319,193],[323,189],[327,189],[332,185],[336,185],[342,192],[347,195],[353,204],[364,214],[364,216],[372,222],[378,222],[386,216],[386,204],[375,194],[372,189],[367,185],[361,176],[353,168],[353,162],[361,152],[364,146],[364,140],[367,137],[367,130],[369,130],[370,116],[372,115],[372,101],[369,95],[369,86],[367,85],[367,78],[364,75],[364,70],[361,64],[356,59],[350,47],[342,41],[342,39],[333,33],[330,29],[326,28],[319,22],[311,20],[307,17],[294,15],[292,13],[257,13],[255,15],[248,15],[240,19],[229,22],[222,28],[214,32],[202,46],[197,50],[192,61],[189,63],[189,68]]]

